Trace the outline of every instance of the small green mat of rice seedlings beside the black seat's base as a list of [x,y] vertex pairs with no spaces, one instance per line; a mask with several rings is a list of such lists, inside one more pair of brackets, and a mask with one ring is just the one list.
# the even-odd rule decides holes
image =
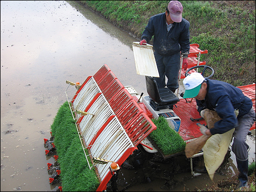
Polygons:
[[147,137],[164,158],[184,153],[186,142],[173,130],[167,120],[160,116],[152,119],[157,129]]

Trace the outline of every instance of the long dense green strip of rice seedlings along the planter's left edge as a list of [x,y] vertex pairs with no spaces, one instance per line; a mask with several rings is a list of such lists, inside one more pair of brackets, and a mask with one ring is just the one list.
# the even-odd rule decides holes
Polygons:
[[66,101],[60,106],[51,125],[54,144],[59,156],[63,191],[95,191],[99,186],[94,169],[84,156],[75,121]]

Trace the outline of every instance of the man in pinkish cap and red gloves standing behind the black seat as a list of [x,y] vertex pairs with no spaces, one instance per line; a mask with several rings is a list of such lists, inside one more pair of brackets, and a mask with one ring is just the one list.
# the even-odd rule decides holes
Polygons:
[[[159,88],[167,86],[175,92],[179,87],[178,77],[180,57],[186,70],[189,54],[189,22],[182,18],[183,7],[178,1],[170,1],[165,13],[154,15],[141,36],[140,45],[146,44],[154,36],[153,49],[160,77],[155,77]],[[165,83],[165,75],[168,79]]]

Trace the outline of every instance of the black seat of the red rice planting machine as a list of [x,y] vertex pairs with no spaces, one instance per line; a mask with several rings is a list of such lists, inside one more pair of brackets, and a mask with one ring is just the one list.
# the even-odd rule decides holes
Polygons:
[[146,77],[146,91],[150,96],[150,105],[155,111],[160,109],[173,109],[173,105],[180,99],[168,88],[158,88],[156,80],[151,76]]

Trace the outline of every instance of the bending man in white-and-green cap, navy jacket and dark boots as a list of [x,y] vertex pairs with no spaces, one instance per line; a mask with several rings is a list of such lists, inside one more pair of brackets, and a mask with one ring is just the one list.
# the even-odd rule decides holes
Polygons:
[[[248,186],[248,148],[246,136],[255,121],[252,101],[243,92],[223,81],[205,79],[200,73],[191,73],[183,80],[185,93],[183,98],[195,98],[198,112],[203,117],[204,110],[214,110],[221,120],[212,129],[203,125],[200,131],[205,136],[223,134],[235,128],[233,132],[232,152],[236,155],[239,170],[237,188]],[[238,110],[236,117],[234,110]]]

